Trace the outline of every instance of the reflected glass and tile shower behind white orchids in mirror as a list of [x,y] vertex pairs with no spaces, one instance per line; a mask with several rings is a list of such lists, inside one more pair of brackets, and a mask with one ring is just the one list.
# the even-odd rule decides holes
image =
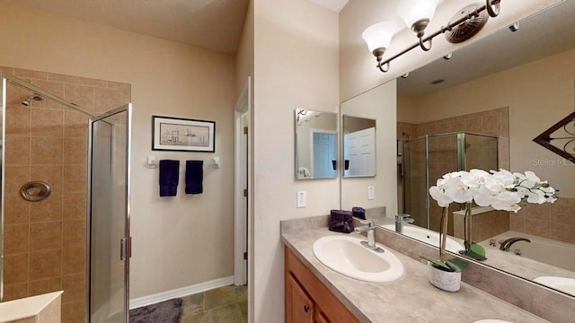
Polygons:
[[[439,231],[442,214],[437,203],[429,200],[429,188],[437,179],[458,170],[498,170],[496,136],[459,132],[424,135],[398,144],[403,146],[399,210],[411,214],[413,224],[433,231]],[[453,217],[448,233],[453,235]]]

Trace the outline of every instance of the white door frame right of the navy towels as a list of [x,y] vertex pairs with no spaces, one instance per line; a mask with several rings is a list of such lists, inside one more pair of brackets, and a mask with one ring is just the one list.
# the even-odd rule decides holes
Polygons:
[[244,253],[250,249],[250,189],[248,188],[249,158],[251,147],[243,127],[250,127],[250,107],[252,105],[252,78],[248,76],[243,90],[234,106],[234,284],[244,285],[248,281],[248,259]]

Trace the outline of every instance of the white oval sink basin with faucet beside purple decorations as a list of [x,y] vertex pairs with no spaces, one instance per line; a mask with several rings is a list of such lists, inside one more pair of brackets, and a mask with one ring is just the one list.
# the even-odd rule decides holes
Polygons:
[[379,253],[360,244],[365,239],[332,235],[314,242],[314,255],[341,275],[373,283],[392,282],[403,275],[403,265],[389,249]]

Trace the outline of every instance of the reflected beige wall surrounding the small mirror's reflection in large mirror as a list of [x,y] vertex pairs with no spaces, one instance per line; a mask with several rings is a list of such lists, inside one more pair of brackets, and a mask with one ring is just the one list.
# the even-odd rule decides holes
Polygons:
[[[341,112],[354,117],[376,118],[376,177],[341,179],[341,208],[385,206],[386,214],[397,214],[395,114],[397,83],[391,81],[341,103]],[[391,118],[393,116],[393,118]],[[367,200],[367,187],[373,186],[375,198]]]

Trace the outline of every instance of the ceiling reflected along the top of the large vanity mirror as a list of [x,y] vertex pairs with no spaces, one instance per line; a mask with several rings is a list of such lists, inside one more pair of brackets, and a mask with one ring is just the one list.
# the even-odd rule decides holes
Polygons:
[[[575,1],[563,1],[519,22],[518,31],[498,31],[399,78],[398,92],[419,97],[575,48],[573,16]],[[445,82],[430,84],[435,80]]]

